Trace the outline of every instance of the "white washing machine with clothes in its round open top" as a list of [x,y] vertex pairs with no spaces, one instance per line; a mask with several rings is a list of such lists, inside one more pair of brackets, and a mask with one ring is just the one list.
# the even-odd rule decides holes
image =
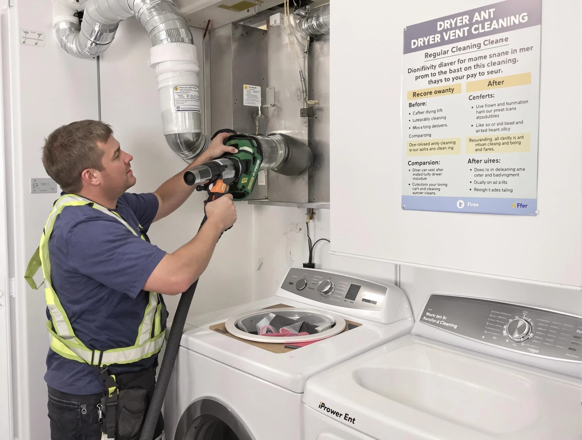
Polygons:
[[[300,440],[307,379],[409,334],[414,323],[395,285],[292,268],[280,286],[270,298],[187,321],[165,399],[166,440]],[[294,349],[314,337],[272,343],[265,339],[278,337],[240,330],[273,309],[335,325]]]

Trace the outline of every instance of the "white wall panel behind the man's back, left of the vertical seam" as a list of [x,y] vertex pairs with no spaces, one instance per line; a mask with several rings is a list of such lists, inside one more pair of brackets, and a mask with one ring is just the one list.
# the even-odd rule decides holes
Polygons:
[[[52,130],[73,120],[97,119],[97,68],[94,60],[65,53],[52,37],[51,2],[19,0],[2,23],[3,107],[9,204],[9,272],[16,280],[12,300],[14,436],[48,438],[48,351],[42,288],[33,291],[24,270],[38,246],[42,227],[57,194],[30,194],[30,179],[47,177],[41,147]],[[20,43],[20,29],[45,33],[44,47]],[[2,433],[0,437],[3,435]]]

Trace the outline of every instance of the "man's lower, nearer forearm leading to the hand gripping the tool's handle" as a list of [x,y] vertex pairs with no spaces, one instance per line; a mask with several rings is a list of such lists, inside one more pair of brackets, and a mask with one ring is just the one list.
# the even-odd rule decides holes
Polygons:
[[145,282],[144,289],[166,295],[186,291],[208,266],[222,232],[217,223],[207,221],[196,237],[162,258]]

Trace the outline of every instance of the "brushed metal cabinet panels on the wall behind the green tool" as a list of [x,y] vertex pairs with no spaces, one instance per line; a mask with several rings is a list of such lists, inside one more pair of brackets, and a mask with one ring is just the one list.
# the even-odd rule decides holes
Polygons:
[[[311,44],[307,63],[308,98],[317,99],[314,117],[300,116],[303,108],[299,67],[289,49],[285,26],[260,28],[229,24],[210,31],[210,120],[212,133],[233,127],[255,133],[258,109],[243,105],[243,85],[275,88],[275,106],[262,108],[259,133],[285,133],[306,143],[315,159],[301,176],[282,176],[268,171],[267,184],[255,185],[251,199],[269,204],[329,203],[329,35]],[[303,38],[303,37],[300,37]],[[291,37],[303,67],[304,48]],[[304,206],[304,205],[303,205]]]

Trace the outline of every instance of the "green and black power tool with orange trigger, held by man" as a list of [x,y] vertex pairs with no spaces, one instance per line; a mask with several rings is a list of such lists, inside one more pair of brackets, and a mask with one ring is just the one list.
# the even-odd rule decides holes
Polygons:
[[[257,181],[261,168],[262,149],[258,139],[246,134],[229,136],[225,145],[234,146],[239,152],[226,153],[184,173],[184,182],[198,185],[198,191],[207,191],[205,203],[215,201],[222,195],[232,194],[235,201],[247,199]],[[204,185],[200,185],[205,182]]]

